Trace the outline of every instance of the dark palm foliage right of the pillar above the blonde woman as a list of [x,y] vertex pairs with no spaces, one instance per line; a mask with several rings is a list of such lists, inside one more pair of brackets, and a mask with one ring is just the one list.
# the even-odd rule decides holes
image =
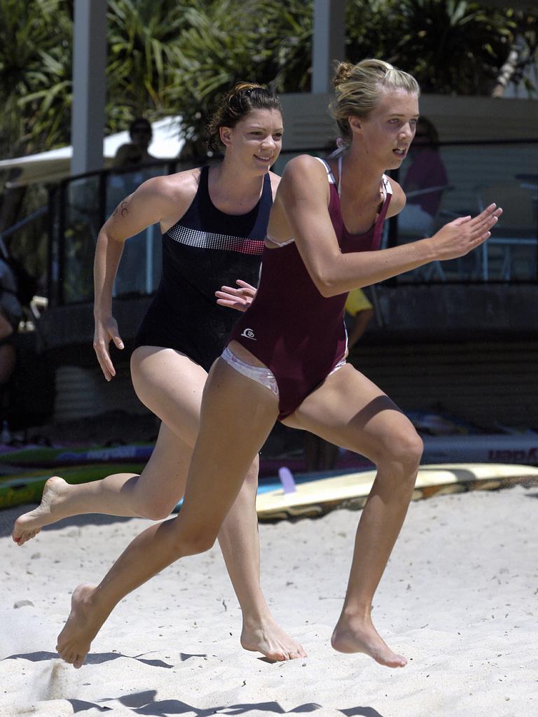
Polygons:
[[521,23],[537,60],[536,19],[467,0],[348,0],[349,60],[381,56],[412,72],[425,92],[490,95]]

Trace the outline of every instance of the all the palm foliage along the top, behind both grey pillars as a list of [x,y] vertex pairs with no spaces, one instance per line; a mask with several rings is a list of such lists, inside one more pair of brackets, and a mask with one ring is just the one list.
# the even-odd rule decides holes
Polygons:
[[[1,156],[68,143],[73,0],[0,0]],[[109,0],[107,132],[181,115],[192,141],[237,80],[308,91],[313,1]],[[518,43],[538,57],[538,19],[467,0],[347,0],[346,53],[384,57],[425,92],[489,94]]]

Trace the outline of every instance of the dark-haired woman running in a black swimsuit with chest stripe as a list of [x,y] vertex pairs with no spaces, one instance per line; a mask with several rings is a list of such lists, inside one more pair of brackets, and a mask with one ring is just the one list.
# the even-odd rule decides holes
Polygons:
[[[94,348],[110,381],[115,370],[109,342],[123,348],[112,315],[123,244],[161,224],[161,285],[131,357],[136,393],[161,419],[154,452],[141,475],[120,473],[82,485],[49,479],[39,508],[16,521],[13,539],[19,545],[42,526],[80,513],[166,518],[184,494],[207,371],[237,320],[229,307],[244,308],[254,292],[250,285],[258,281],[280,180],[269,171],[282,145],[279,100],[259,85],[240,83],[223,98],[208,133],[212,148],[224,148],[222,162],[144,182],[105,223],[95,251]],[[236,290],[238,279],[245,281]],[[230,289],[220,293],[223,284]],[[301,657],[303,648],[275,623],[260,588],[257,460],[243,478],[219,535],[242,609],[241,644],[275,660]]]

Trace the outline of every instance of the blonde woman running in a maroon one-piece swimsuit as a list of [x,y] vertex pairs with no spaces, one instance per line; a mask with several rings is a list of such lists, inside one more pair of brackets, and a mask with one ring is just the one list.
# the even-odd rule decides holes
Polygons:
[[433,237],[378,251],[384,218],[405,204],[402,189],[384,171],[399,167],[409,150],[419,88],[410,75],[379,60],[341,63],[334,87],[346,151],[340,162],[298,156],[285,168],[258,294],[207,379],[181,513],[141,533],[98,587],[75,590],[58,640],[67,662],[80,665],[128,592],[176,559],[212,546],[240,490],[238,476],[278,417],[377,465],[332,645],[388,667],[407,662],[378,635],[370,613],[407,513],[422,442],[383,391],[346,364],[344,303],[353,288],[466,255],[489,237],[501,210],[493,204]]

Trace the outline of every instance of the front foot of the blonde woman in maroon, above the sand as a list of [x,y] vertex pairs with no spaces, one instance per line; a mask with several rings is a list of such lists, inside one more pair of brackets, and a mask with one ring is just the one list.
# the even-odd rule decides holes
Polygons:
[[379,637],[372,620],[341,615],[331,637],[331,645],[338,652],[364,652],[373,657],[379,665],[387,668],[405,668],[407,660],[392,652]]

